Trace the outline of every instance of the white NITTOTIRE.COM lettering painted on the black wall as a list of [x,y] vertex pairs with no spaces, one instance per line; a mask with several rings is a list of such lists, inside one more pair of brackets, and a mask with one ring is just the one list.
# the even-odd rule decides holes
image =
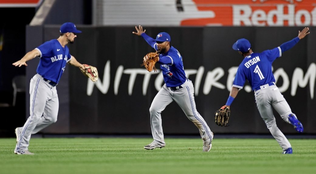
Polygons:
[[[228,76],[226,81],[226,89],[228,91],[231,90],[235,74],[238,67],[233,66],[228,69]],[[273,69],[272,69],[273,70]],[[136,78],[143,78],[143,85],[142,85],[142,93],[143,96],[147,95],[148,91],[148,85],[150,78],[152,75],[156,75],[155,77],[155,89],[157,91],[161,90],[162,85],[164,84],[162,73],[160,70],[157,70],[157,72],[148,72],[146,69],[140,69],[140,68],[129,68],[125,69],[123,65],[119,65],[114,79],[114,94],[118,95],[119,93],[119,86],[121,82],[121,77],[123,74],[129,75],[129,81],[128,81],[128,95],[132,95],[133,87]],[[137,74],[140,74],[141,76],[137,76]],[[195,77],[195,83],[194,83],[194,92],[195,95],[198,95],[202,78],[204,75],[204,66],[200,66],[197,70],[195,69],[189,69],[185,70],[186,76],[189,78],[190,75],[196,74]],[[203,94],[208,95],[212,89],[212,87],[218,88],[218,89],[225,89],[225,85],[218,82],[223,76],[225,75],[225,71],[222,67],[216,67],[212,71],[207,71],[205,80],[204,80],[204,86],[203,86]],[[307,69],[306,74],[304,75],[304,72],[301,68],[297,67],[293,71],[292,81],[290,82],[289,76],[286,71],[284,71],[283,68],[276,69],[274,72],[274,77],[276,79],[276,82],[281,77],[283,79],[283,84],[277,84],[280,92],[285,92],[289,89],[289,85],[291,84],[291,95],[295,96],[297,87],[305,88],[307,84],[309,83],[309,91],[310,91],[310,97],[311,99],[314,98],[314,88],[315,88],[315,80],[316,80],[316,64],[311,63]],[[87,84],[87,95],[91,96],[94,90],[94,85],[97,87],[97,89],[100,90],[102,94],[106,94],[109,90],[110,86],[110,61],[108,60],[106,62],[106,65],[104,66],[104,73],[103,78],[101,80],[101,77],[99,77],[99,80],[96,82],[92,82],[90,79],[88,79]],[[245,85],[243,88],[246,92],[252,92],[252,89],[249,85]]]

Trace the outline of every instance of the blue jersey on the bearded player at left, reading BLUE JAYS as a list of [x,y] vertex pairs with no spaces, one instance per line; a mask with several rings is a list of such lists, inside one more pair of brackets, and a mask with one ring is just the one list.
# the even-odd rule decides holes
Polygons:
[[35,49],[40,52],[40,63],[36,72],[43,78],[58,83],[66,63],[71,59],[68,47],[62,47],[57,39],[53,39]]

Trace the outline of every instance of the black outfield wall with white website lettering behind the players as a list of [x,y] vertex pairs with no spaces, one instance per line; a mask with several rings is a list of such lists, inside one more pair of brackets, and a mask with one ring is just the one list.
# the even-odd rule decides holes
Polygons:
[[[68,45],[70,53],[81,63],[95,65],[100,79],[92,83],[77,68],[67,66],[57,85],[58,121],[43,132],[150,134],[149,107],[163,79],[161,72],[148,73],[140,64],[143,56],[154,49],[142,37],[132,34],[134,27],[77,27],[82,33],[77,35],[74,44]],[[242,61],[232,44],[246,38],[254,52],[261,52],[293,39],[302,28],[144,27],[152,37],[162,31],[171,35],[171,45],[181,53],[186,76],[194,84],[197,111],[215,133],[269,133],[249,84],[245,84],[231,106],[230,126],[218,127],[214,123],[214,112],[226,103]],[[309,134],[316,133],[314,29],[310,27],[312,33],[307,38],[273,63],[277,86],[303,123],[304,133]],[[58,34],[59,26],[28,26],[27,51],[58,38]],[[33,59],[28,63],[28,80],[33,77],[38,62],[39,59]],[[295,133],[291,125],[274,114],[283,133]],[[198,134],[198,129],[176,103],[168,105],[161,115],[165,134]]]

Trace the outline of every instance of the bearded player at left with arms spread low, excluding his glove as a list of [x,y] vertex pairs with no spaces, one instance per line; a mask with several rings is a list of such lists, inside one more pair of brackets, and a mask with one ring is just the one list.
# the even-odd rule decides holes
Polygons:
[[15,154],[32,155],[33,153],[28,151],[31,134],[36,134],[57,121],[59,102],[56,85],[63,75],[66,63],[85,69],[84,65],[70,55],[66,46],[74,42],[76,33],[81,33],[81,31],[76,29],[75,24],[66,22],[60,27],[58,39],[43,43],[26,53],[21,60],[13,63],[19,67],[27,66],[27,61],[40,57],[37,74],[30,81],[30,116],[23,127],[15,129],[17,142]]

